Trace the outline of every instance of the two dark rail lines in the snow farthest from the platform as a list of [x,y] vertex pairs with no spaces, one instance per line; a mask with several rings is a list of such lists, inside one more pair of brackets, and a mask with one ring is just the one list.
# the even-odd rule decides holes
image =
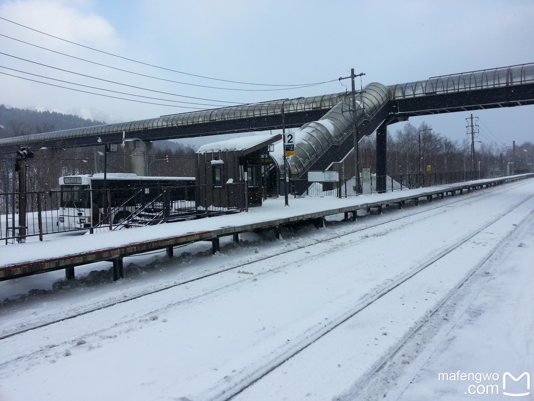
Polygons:
[[[505,212],[502,212],[497,217],[493,218],[491,221],[484,223],[482,226],[478,227],[477,229],[473,230],[469,234],[467,234],[467,235],[463,236],[462,238],[460,238],[460,240],[458,240],[457,242],[455,242],[451,246],[447,246],[441,252],[437,253],[436,256],[426,260],[422,264],[419,264],[417,267],[412,269],[412,271],[408,272],[400,280],[397,280],[396,282],[391,283],[391,285],[389,287],[381,290],[380,292],[378,292],[378,294],[375,294],[374,296],[366,299],[363,302],[363,304],[358,305],[357,307],[355,307],[355,309],[353,309],[353,310],[349,311],[348,313],[344,314],[342,317],[337,318],[333,323],[331,323],[331,325],[328,328],[323,330],[321,333],[316,333],[314,336],[309,338],[309,341],[307,341],[307,342],[305,342],[303,344],[300,344],[300,346],[298,346],[297,348],[294,348],[292,350],[292,352],[290,352],[286,357],[282,358],[281,360],[278,360],[275,364],[272,364],[271,366],[269,366],[267,368],[264,368],[262,372],[256,372],[256,374],[253,377],[250,377],[248,381],[241,383],[241,385],[238,388],[225,389],[218,396],[210,398],[210,401],[230,401],[230,400],[234,399],[235,397],[239,396],[242,392],[244,392],[245,390],[247,390],[250,387],[252,387],[255,383],[260,382],[262,379],[264,379],[266,376],[268,376],[271,372],[276,371],[276,369],[278,369],[282,365],[286,364],[288,361],[290,361],[291,359],[293,359],[294,357],[299,355],[302,351],[304,351],[305,349],[307,349],[310,346],[312,346],[313,344],[315,344],[318,340],[320,340],[321,338],[325,337],[327,334],[332,333],[332,331],[334,331],[336,328],[338,328],[341,325],[343,325],[343,323],[345,323],[345,322],[349,321],[350,319],[354,318],[357,314],[359,314],[360,312],[364,311],[365,309],[367,309],[368,307],[373,305],[380,298],[382,298],[382,297],[386,296],[387,294],[389,294],[389,292],[395,290],[397,287],[399,287],[402,284],[404,284],[404,283],[408,282],[409,280],[413,279],[413,277],[417,276],[419,273],[424,271],[426,268],[434,265],[437,261],[439,261],[440,259],[442,259],[446,255],[449,255],[454,250],[457,250],[461,245],[465,244],[466,242],[471,240],[474,236],[476,236],[477,234],[480,234],[481,232],[483,232],[483,230],[485,230],[486,228],[492,226],[494,223],[498,222],[499,220],[504,218],[507,214],[509,214],[510,212],[512,212],[514,209],[516,209],[517,207],[521,206],[525,202],[529,201],[533,197],[534,197],[534,194],[524,197],[523,199],[521,199],[520,202],[515,203],[514,205],[509,207]],[[410,335],[407,338],[405,338],[404,341],[401,341],[400,343],[398,343],[397,344],[398,346],[396,347],[396,349],[393,352],[391,352],[387,356],[387,358],[385,358],[385,360],[383,360],[383,362],[376,369],[374,369],[373,372],[371,372],[371,374],[368,375],[368,377],[370,377],[371,375],[375,374],[376,372],[379,372],[380,369],[382,369],[384,367],[384,365],[386,365],[387,361],[392,356],[394,356],[397,353],[397,351],[399,349],[401,349],[406,344],[407,341],[410,340],[410,338],[413,336],[413,334],[416,333],[418,330],[420,330],[421,327],[425,324],[425,322],[427,322],[431,317],[433,317],[435,314],[437,314],[438,311],[447,303],[447,301],[462,286],[464,286],[469,281],[469,279],[475,274],[475,272],[481,266],[483,266],[494,255],[494,253],[500,248],[500,246],[504,242],[506,242],[508,240],[508,238],[510,238],[516,232],[516,230],[522,225],[522,223],[525,222],[530,217],[532,217],[532,214],[534,214],[534,209],[531,210],[521,220],[521,222],[518,225],[514,225],[515,228],[511,232],[509,232],[504,238],[502,238],[497,244],[494,245],[494,247],[491,249],[491,251],[480,261],[480,263],[478,263],[473,269],[471,269],[471,271],[469,272],[467,277],[464,280],[462,280],[457,286],[455,286],[454,288],[452,288],[449,291],[449,293],[445,297],[445,300],[443,300],[443,302],[436,309],[431,311],[427,315],[427,318],[425,320],[423,320],[421,322],[421,324],[418,325],[412,331],[412,333],[410,333]],[[385,396],[386,395],[384,394],[384,397]]]

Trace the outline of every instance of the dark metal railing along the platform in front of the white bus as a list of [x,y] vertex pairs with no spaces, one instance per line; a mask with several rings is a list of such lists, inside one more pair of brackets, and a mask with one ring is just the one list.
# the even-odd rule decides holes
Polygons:
[[104,232],[247,209],[246,183],[0,194],[0,240]]

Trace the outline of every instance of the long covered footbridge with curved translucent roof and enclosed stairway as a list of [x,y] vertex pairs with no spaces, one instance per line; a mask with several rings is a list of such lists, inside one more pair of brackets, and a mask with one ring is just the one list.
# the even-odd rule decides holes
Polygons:
[[[534,104],[534,63],[386,86],[368,84],[357,95],[356,130],[360,140],[377,131],[377,175],[386,172],[386,127],[416,115]],[[120,143],[123,135],[144,141],[254,132],[297,127],[291,173],[324,170],[354,148],[350,94],[281,99],[166,115],[159,118],[0,139],[0,151],[19,146],[68,148]],[[281,147],[275,152],[281,155]]]

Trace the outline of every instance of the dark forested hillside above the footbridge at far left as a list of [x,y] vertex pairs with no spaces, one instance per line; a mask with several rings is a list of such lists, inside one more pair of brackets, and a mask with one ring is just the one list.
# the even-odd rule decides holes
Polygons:
[[103,124],[106,122],[84,119],[73,114],[17,109],[0,105],[0,138]]

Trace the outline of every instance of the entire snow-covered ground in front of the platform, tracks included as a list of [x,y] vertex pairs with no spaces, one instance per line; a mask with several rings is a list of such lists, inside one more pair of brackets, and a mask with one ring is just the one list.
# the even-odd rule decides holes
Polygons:
[[0,283],[0,399],[472,397],[437,373],[531,372],[533,195],[525,180],[215,256],[187,245],[115,283]]

